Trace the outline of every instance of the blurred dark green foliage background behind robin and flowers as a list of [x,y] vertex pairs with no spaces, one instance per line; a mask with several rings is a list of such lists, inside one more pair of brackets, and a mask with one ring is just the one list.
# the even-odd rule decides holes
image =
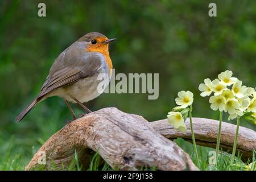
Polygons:
[[[46,3],[43,18],[40,2]],[[216,18],[208,16],[210,2],[217,4]],[[0,166],[22,169],[72,119],[65,102],[52,97],[22,122],[14,121],[39,92],[55,58],[84,34],[117,38],[110,45],[116,73],[159,73],[158,100],[147,100],[147,94],[102,94],[86,104],[91,110],[115,106],[155,121],[166,118],[177,92],[191,90],[193,116],[218,119],[198,86],[226,69],[256,86],[255,19],[255,1],[0,0]],[[245,121],[241,125],[256,130]]]

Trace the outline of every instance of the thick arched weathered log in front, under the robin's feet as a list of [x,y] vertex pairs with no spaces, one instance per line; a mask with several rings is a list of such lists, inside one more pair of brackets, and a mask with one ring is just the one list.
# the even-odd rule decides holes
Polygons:
[[114,169],[197,170],[189,155],[154,130],[146,119],[114,107],[68,123],[43,144],[26,169],[41,168],[38,161],[43,152],[44,169],[63,169],[71,163],[75,150],[86,169],[92,157],[90,149]]

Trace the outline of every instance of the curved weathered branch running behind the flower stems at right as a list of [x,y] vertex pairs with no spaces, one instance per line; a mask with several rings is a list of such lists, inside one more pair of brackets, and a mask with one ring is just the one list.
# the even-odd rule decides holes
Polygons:
[[[153,126],[156,131],[159,131],[160,134],[168,139],[174,140],[181,137],[192,142],[189,120],[187,119],[185,123],[188,130],[186,133],[181,133],[175,130],[174,127],[168,123],[167,119],[150,122],[151,126]],[[192,123],[196,144],[215,148],[219,122],[213,119],[193,118]],[[222,122],[220,148],[222,148],[223,151],[232,153],[235,134],[236,125]],[[256,132],[240,126],[237,139],[237,152],[239,151],[240,154],[242,154],[242,160],[244,162],[247,162],[247,160],[252,157],[253,149],[256,150]]]

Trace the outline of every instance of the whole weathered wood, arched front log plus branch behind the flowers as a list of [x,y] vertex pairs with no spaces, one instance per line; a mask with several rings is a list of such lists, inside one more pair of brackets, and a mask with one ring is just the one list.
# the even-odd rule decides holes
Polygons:
[[[167,119],[148,122],[139,115],[108,107],[86,114],[57,131],[36,152],[26,169],[67,168],[76,150],[84,169],[88,169],[94,151],[97,151],[114,169],[197,170],[189,155],[171,141],[178,137],[192,141],[189,121],[186,125],[188,131],[180,133]],[[218,121],[193,118],[193,129],[197,144],[216,146]],[[222,123],[222,150],[232,151],[235,131],[235,125]],[[237,149],[244,160],[251,157],[253,149],[256,150],[255,141],[255,131],[240,127]],[[42,154],[46,154],[46,165],[38,163]]]

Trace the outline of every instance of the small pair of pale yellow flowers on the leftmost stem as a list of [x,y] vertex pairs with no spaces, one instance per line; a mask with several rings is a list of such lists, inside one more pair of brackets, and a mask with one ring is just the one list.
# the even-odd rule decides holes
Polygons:
[[177,93],[177,98],[175,99],[177,107],[174,107],[174,111],[168,113],[167,118],[168,122],[174,126],[176,130],[181,132],[187,131],[187,127],[185,125],[185,120],[188,117],[188,106],[193,104],[193,93],[180,91]]

